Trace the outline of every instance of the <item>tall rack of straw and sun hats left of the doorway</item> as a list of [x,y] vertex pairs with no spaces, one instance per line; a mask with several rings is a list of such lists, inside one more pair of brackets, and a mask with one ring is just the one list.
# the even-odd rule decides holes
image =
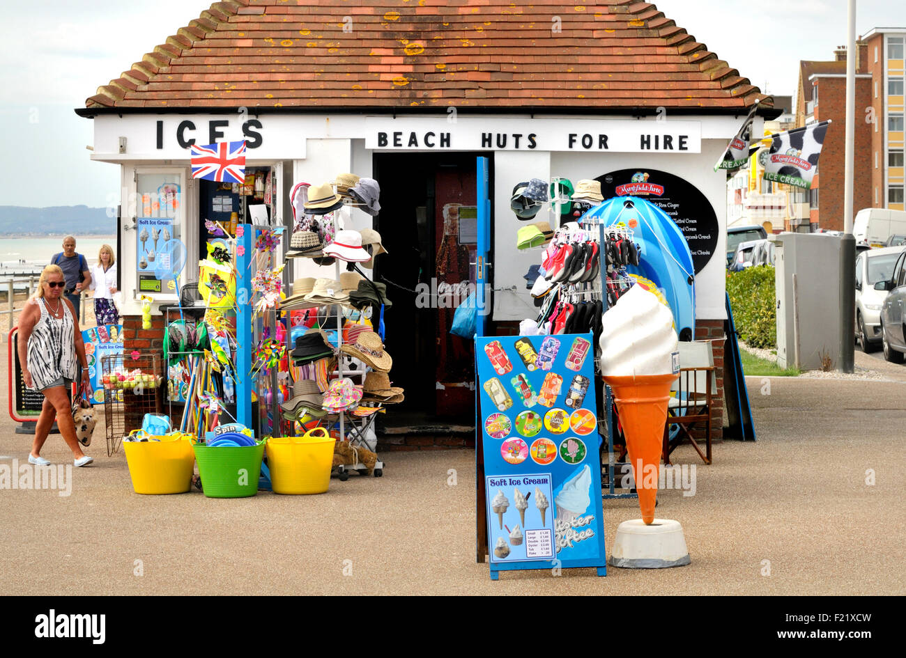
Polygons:
[[[376,393],[371,393],[368,400],[362,400],[371,377],[370,364],[382,366],[385,365],[382,359],[386,358],[390,363],[391,359],[382,351],[383,344],[381,338],[378,338],[379,334],[368,330],[364,324],[351,323],[347,327],[343,325],[344,310],[353,310],[354,317],[355,307],[360,303],[367,308],[370,300],[380,300],[385,302],[381,306],[383,308],[383,306],[390,306],[390,300],[386,300],[385,293],[382,293],[375,284],[363,276],[358,267],[355,267],[355,272],[344,272],[344,270],[347,263],[361,263],[370,269],[373,267],[374,258],[380,253],[387,253],[387,250],[381,244],[381,236],[376,231],[372,229],[365,229],[361,232],[346,230],[344,225],[336,223],[337,215],[333,215],[333,213],[339,212],[341,207],[358,208],[366,215],[377,215],[381,208],[378,201],[380,187],[377,181],[371,178],[341,174],[336,176],[332,184],[310,186],[307,192],[306,203],[302,205],[302,208],[297,209],[294,206],[296,219],[294,229],[296,230],[290,239],[290,251],[286,253],[286,258],[313,258],[319,264],[323,262],[320,260],[323,257],[332,258],[334,279],[314,281],[297,279],[293,282],[292,294],[284,300],[279,310],[281,313],[286,312],[287,369],[289,375],[293,376],[296,382],[293,386],[295,391],[296,386],[300,383],[305,385],[303,368],[310,367],[308,372],[315,371],[314,379],[317,381],[319,391],[323,391],[323,406],[333,401],[340,406],[319,414],[317,410],[313,409],[314,397],[309,396],[309,399],[305,396],[294,396],[290,398],[287,395],[284,403],[284,411],[287,413],[283,417],[289,422],[290,432],[294,432],[296,427],[301,427],[304,431],[322,427],[329,434],[336,435],[338,446],[342,446],[342,443],[345,442],[348,452],[352,453],[352,463],[336,465],[337,475],[341,481],[348,479],[350,471],[358,471],[362,474],[373,472],[376,477],[380,477],[384,464],[380,460],[376,460],[376,455],[372,452],[376,446],[368,439],[374,434],[373,428],[377,416],[384,413],[385,403],[392,404],[401,401],[402,389],[399,389],[399,393],[397,393],[397,389],[388,388],[384,392],[394,395],[381,397],[377,394],[381,393],[383,389],[377,388]],[[310,207],[313,200],[320,205],[320,208]],[[331,208],[331,211],[325,213],[323,208]],[[313,215],[321,215],[320,223],[317,225],[315,225],[317,217],[309,215],[309,211],[312,209],[316,211]],[[318,212],[318,210],[322,212]],[[348,213],[348,211],[346,212]],[[371,245],[371,253],[365,251],[366,245]],[[353,283],[355,283],[354,286]],[[371,285],[369,285],[370,283]],[[336,284],[340,284],[341,291],[335,290]],[[359,311],[360,320],[364,319],[364,308]],[[295,343],[293,341],[290,325],[294,310],[308,310],[309,312],[317,310],[318,330],[320,331],[324,326],[332,328],[328,330],[335,332],[336,343],[333,345],[333,341],[331,341],[331,356],[319,358],[315,362],[301,367],[294,365],[294,354],[300,357],[300,361],[304,360],[304,352],[298,352],[297,349],[313,349],[304,345],[304,337],[297,339]],[[378,330],[379,328],[375,328],[375,331]],[[380,330],[382,331],[382,322]],[[309,327],[304,336],[309,336],[312,331],[312,327]],[[344,338],[344,332],[348,334],[348,337]],[[362,337],[363,334],[370,336],[365,339]],[[367,346],[360,345],[358,342],[360,337],[362,341],[371,342]],[[313,339],[309,342],[317,343],[318,341]],[[295,346],[299,347],[294,349]],[[366,363],[366,361],[370,361],[370,363]],[[319,365],[315,366],[314,363]],[[324,368],[324,363],[330,365]],[[378,372],[376,367],[372,367],[371,371]],[[358,385],[345,384],[345,382],[352,383],[353,380],[358,380]],[[387,379],[386,386],[389,386],[389,379]],[[297,401],[296,405],[293,405],[294,400]],[[306,421],[304,424],[303,420]],[[341,450],[338,449],[337,453],[341,453]],[[371,454],[372,461],[369,462],[367,458],[360,460],[360,453]]]

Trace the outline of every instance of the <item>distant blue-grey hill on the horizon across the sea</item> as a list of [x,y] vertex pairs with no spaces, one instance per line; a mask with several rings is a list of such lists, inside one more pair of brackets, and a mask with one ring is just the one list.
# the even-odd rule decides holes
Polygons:
[[0,205],[0,235],[112,235],[116,217],[107,216],[107,208],[87,205],[55,205],[50,208],[26,208]]

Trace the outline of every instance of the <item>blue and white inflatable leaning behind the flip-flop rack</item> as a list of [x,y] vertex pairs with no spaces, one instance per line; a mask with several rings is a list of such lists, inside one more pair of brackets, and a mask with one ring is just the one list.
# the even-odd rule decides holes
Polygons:
[[640,262],[629,265],[627,271],[654,281],[667,298],[679,339],[694,339],[695,269],[679,226],[657,205],[637,196],[615,196],[579,219],[590,220],[632,229],[634,242],[641,246]]

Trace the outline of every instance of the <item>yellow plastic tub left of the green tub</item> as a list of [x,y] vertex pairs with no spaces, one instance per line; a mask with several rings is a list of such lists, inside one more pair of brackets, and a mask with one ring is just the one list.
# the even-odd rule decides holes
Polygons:
[[161,436],[148,443],[122,442],[136,493],[186,493],[192,486],[195,453],[187,436]]

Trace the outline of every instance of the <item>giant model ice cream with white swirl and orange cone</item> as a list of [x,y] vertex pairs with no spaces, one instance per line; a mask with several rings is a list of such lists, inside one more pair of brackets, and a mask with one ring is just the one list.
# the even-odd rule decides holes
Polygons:
[[677,350],[673,316],[658,298],[632,286],[604,313],[601,372],[613,389],[626,447],[639,492],[641,519],[654,520],[658,468],[667,421],[667,400]]

